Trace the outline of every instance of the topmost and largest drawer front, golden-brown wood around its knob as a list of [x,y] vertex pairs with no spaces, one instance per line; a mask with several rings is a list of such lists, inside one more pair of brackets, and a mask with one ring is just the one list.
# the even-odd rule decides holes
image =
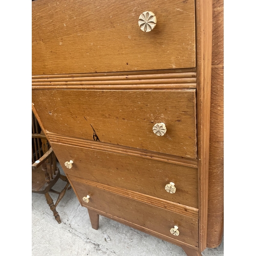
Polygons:
[[193,0],[37,0],[32,21],[33,75],[196,67]]

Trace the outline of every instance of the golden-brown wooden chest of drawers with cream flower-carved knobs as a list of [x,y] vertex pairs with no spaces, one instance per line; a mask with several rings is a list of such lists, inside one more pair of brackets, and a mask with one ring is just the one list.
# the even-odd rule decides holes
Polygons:
[[219,245],[222,127],[210,119],[210,98],[220,99],[211,87],[221,87],[211,86],[218,8],[32,2],[32,110],[93,228],[102,215],[191,256]]

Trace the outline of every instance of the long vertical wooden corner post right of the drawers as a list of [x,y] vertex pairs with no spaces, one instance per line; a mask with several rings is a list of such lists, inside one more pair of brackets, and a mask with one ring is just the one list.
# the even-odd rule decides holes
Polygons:
[[199,250],[206,248],[208,217],[212,0],[196,0]]

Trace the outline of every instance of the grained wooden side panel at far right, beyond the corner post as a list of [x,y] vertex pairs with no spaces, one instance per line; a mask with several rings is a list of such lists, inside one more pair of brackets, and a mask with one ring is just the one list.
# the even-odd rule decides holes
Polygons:
[[224,223],[224,1],[213,1],[207,247],[222,242]]

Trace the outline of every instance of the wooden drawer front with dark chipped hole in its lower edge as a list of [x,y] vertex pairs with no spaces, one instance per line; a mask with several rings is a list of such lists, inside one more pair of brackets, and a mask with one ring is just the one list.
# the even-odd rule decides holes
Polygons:
[[[196,90],[33,90],[51,133],[196,158]],[[164,136],[153,133],[163,122]]]

